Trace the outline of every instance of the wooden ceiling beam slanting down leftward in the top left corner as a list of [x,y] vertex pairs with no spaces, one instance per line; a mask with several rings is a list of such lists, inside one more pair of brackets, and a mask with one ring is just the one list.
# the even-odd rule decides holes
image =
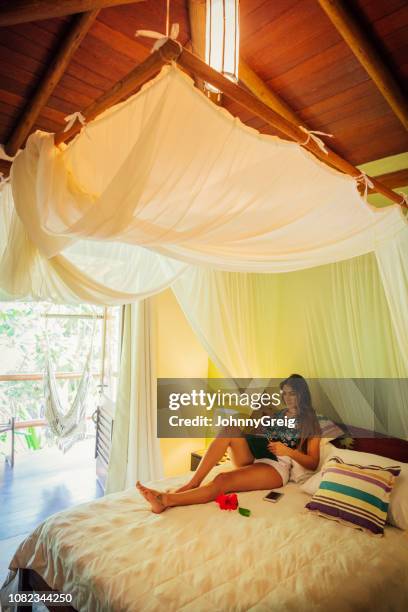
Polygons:
[[73,18],[73,23],[67,36],[63,40],[55,56],[53,55],[53,59],[46,73],[41,79],[33,97],[25,107],[21,118],[4,147],[7,155],[10,155],[10,157],[13,157],[17,153],[18,149],[29,135],[37,117],[61,80],[75,51],[86,36],[98,13],[99,10],[95,9],[87,13],[75,15]]

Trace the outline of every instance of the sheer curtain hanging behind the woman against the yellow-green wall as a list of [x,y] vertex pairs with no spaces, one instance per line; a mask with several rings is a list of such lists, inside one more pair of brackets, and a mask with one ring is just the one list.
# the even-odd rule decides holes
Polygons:
[[373,254],[287,274],[194,269],[173,290],[223,375],[326,379],[316,391],[330,416],[408,437],[408,344]]

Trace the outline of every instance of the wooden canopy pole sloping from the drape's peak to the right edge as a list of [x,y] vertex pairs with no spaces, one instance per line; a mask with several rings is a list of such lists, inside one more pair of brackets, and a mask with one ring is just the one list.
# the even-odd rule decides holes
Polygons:
[[[211,83],[214,87],[217,87],[224,95],[229,97],[231,100],[238,102],[241,106],[249,110],[254,115],[260,117],[263,121],[278,129],[286,136],[289,136],[291,140],[299,143],[306,149],[308,149],[311,153],[316,155],[319,159],[321,159],[325,164],[334,166],[341,172],[345,174],[349,174],[354,178],[361,176],[361,170],[353,166],[350,162],[343,159],[332,151],[328,146],[326,146],[327,154],[324,153],[318,146],[316,142],[311,138],[307,138],[304,131],[300,129],[300,127],[287,119],[279,115],[276,111],[272,110],[267,106],[264,102],[256,98],[250,92],[242,89],[236,83],[232,83],[227,78],[225,78],[222,74],[213,70],[202,62],[198,57],[183,49],[177,58],[177,64],[183,68],[186,72],[196,77],[199,77],[206,81],[207,83]],[[375,191],[378,193],[382,193],[387,198],[400,204],[401,206],[406,206],[404,199],[400,194],[395,193],[385,185],[382,185],[377,179],[370,177],[372,181]]]

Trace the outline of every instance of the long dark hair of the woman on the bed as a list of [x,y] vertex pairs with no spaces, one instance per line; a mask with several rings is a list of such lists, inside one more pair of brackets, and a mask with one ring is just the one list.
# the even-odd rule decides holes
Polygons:
[[312,405],[310,389],[307,382],[300,374],[291,374],[288,378],[283,380],[279,385],[281,391],[285,385],[291,387],[297,396],[297,420],[300,428],[300,448],[304,450],[309,438],[321,435],[319,421]]

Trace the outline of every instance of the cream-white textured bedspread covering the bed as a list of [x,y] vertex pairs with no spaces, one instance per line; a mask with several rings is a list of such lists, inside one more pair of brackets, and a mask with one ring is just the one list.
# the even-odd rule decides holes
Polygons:
[[250,518],[215,503],[154,515],[134,490],[109,495],[46,520],[10,567],[80,612],[408,610],[407,532],[375,538],[308,514],[293,483],[284,493],[241,493]]

